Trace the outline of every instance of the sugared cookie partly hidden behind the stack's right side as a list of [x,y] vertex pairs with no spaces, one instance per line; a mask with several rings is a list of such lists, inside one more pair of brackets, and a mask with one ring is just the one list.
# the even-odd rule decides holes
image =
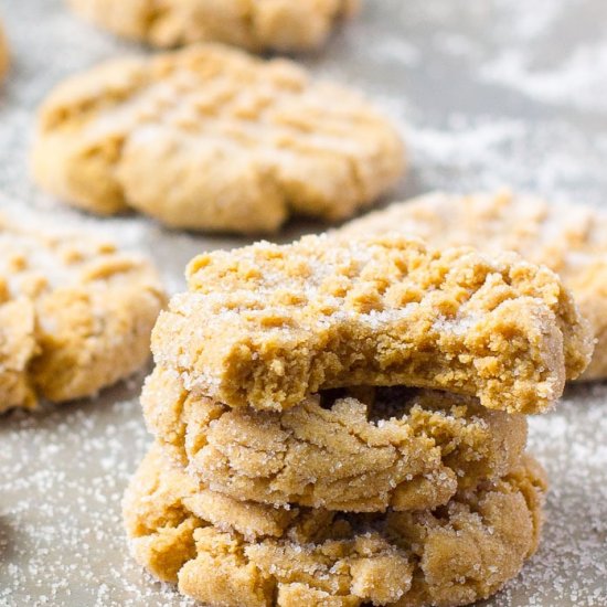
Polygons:
[[396,232],[436,246],[515,251],[556,271],[590,321],[597,344],[583,380],[607,377],[607,213],[508,191],[427,194],[347,224],[345,237]]

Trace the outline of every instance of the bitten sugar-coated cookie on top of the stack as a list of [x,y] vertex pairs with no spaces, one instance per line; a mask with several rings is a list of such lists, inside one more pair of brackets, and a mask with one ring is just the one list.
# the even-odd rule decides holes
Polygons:
[[284,409],[330,387],[407,385],[537,413],[593,348],[558,277],[514,254],[307,236],[204,254],[188,276],[152,351],[187,390],[228,406]]

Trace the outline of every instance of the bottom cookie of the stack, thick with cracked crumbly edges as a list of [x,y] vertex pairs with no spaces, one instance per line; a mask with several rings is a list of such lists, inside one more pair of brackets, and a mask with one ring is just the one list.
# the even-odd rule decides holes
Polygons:
[[204,605],[467,605],[536,549],[546,490],[531,458],[503,479],[420,512],[281,510],[219,497],[152,449],[127,490],[137,561]]

